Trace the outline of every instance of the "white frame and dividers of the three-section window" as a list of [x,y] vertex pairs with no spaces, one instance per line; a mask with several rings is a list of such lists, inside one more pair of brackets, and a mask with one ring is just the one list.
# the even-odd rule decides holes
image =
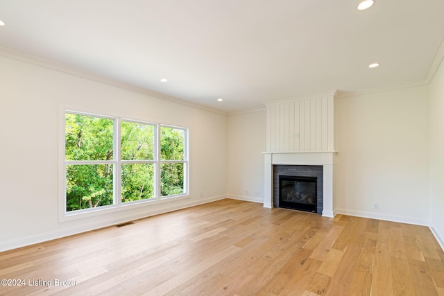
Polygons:
[[[65,157],[65,114],[79,114],[85,116],[94,116],[104,119],[112,119],[114,121],[113,128],[113,157],[111,160],[98,160],[98,161],[67,161]],[[133,123],[141,123],[147,125],[153,125],[154,127],[154,159],[153,160],[122,160],[121,159],[121,121],[128,121]],[[184,159],[183,160],[160,160],[160,128],[175,128],[184,131]],[[128,119],[119,116],[109,116],[104,114],[97,114],[92,112],[83,112],[78,110],[72,110],[62,108],[60,111],[60,132],[59,132],[59,221],[65,222],[69,220],[76,220],[80,218],[87,218],[92,216],[99,216],[116,211],[123,211],[127,209],[137,207],[148,207],[152,204],[169,202],[171,200],[182,200],[189,198],[189,129],[179,127],[176,125],[166,125],[162,123],[148,122],[137,119]],[[184,188],[183,193],[175,195],[161,195],[160,191],[160,167],[162,163],[182,163],[184,164]],[[67,196],[66,196],[66,174],[68,165],[81,165],[81,164],[112,164],[113,165],[113,204],[100,206],[89,209],[79,209],[76,211],[67,211]],[[146,200],[134,200],[130,202],[121,202],[121,165],[122,164],[154,164],[154,196]]]

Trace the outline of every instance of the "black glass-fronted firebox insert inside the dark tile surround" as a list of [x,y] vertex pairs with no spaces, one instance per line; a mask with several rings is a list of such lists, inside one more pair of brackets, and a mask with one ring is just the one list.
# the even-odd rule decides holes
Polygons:
[[278,207],[316,213],[317,177],[279,176]]

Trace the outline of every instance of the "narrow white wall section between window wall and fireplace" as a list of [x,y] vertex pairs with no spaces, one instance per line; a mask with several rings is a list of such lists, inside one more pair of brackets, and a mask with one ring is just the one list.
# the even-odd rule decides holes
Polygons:
[[230,198],[264,202],[266,111],[228,116],[228,182]]

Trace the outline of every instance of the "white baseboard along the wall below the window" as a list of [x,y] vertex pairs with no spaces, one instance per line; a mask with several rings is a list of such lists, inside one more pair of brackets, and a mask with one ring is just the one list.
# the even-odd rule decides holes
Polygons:
[[188,207],[194,207],[199,204],[205,204],[207,202],[214,202],[216,200],[222,200],[227,198],[226,195],[217,195],[212,196],[210,198],[204,198],[199,200],[189,199],[189,202],[185,204],[181,204],[179,207],[175,206],[173,202],[169,202],[164,204],[164,207],[156,207],[152,211],[144,211],[144,213],[131,213],[128,211],[128,214],[121,214],[117,218],[108,218],[96,221],[95,223],[76,225],[75,227],[65,227],[63,229],[59,229],[53,232],[43,232],[40,234],[33,234],[31,236],[24,236],[22,238],[17,238],[10,241],[3,241],[0,243],[0,252],[17,249],[19,247],[26,247],[28,245],[34,245],[36,243],[42,243],[45,241],[51,241],[53,239],[62,238],[65,236],[71,236],[74,234],[80,234],[82,232],[89,232],[95,229],[108,227],[112,225],[117,225],[119,223],[125,223],[131,220],[137,220],[140,218],[146,218],[149,216],[155,216],[159,214],[164,214],[169,211],[177,211],[179,209],[185,209]]

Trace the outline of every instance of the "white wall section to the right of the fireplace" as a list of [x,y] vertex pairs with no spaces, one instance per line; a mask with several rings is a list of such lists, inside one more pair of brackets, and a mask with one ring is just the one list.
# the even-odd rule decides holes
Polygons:
[[334,108],[336,211],[428,225],[427,85],[338,98]]

